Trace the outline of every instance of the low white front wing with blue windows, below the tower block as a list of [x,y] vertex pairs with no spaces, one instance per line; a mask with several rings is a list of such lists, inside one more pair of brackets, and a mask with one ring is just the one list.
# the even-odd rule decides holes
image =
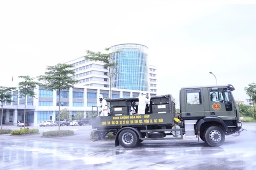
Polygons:
[[[138,97],[143,91],[113,88],[111,92],[113,98],[127,98]],[[25,101],[25,99],[17,98],[18,91],[13,91],[14,102],[3,105],[4,123],[17,125],[18,121],[23,121],[25,103],[26,122],[30,126],[38,126],[41,121],[56,120],[59,113],[59,92],[37,87],[35,93],[35,98],[29,97]],[[69,90],[61,90],[60,109],[68,109],[71,117],[74,117],[77,112],[84,113],[86,117],[88,114],[97,112],[97,107],[92,106],[100,106],[99,94],[108,97],[109,88],[76,85]]]

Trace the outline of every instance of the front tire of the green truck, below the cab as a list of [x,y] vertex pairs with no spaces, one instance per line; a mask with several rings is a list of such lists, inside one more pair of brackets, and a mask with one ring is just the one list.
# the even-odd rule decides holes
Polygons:
[[210,126],[204,132],[204,139],[207,145],[211,147],[219,147],[225,141],[225,134],[219,127]]

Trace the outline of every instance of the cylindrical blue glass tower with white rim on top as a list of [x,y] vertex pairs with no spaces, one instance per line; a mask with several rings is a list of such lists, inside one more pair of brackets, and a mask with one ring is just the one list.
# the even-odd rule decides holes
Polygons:
[[110,52],[119,51],[113,55],[112,63],[117,63],[111,69],[112,87],[148,91],[148,47],[140,44],[119,44],[110,47]]

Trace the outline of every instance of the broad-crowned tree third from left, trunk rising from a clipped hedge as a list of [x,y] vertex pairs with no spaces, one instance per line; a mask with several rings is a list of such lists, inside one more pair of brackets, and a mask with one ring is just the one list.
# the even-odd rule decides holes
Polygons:
[[[59,114],[60,114],[60,90],[69,90],[73,88],[74,84],[78,80],[70,78],[75,74],[74,70],[71,70],[74,66],[72,64],[57,64],[55,66],[47,66],[45,75],[39,75],[38,80],[44,81],[43,87],[48,90],[57,90],[59,99]],[[59,130],[60,130],[60,116],[59,116]]]

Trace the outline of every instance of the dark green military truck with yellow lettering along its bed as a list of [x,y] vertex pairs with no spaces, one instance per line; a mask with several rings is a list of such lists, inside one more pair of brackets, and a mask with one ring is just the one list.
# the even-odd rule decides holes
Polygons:
[[[108,116],[93,116],[93,141],[115,135],[115,146],[133,148],[144,140],[174,140],[194,136],[211,147],[225,141],[225,135],[241,132],[239,109],[226,86],[185,87],[180,90],[180,113],[172,95],[151,96],[145,114],[136,114],[138,97],[106,99]],[[95,108],[93,108],[95,112]]]

